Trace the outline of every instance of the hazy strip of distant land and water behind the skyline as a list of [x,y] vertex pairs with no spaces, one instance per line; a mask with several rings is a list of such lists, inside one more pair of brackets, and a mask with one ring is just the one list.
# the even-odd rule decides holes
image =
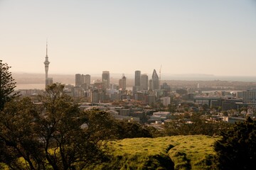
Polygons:
[[[45,74],[43,73],[26,73],[26,72],[13,72],[13,77],[16,79],[17,83],[21,84],[29,84],[31,81],[33,81],[34,84],[40,83],[44,84]],[[80,74],[90,74],[90,73],[80,73]],[[110,72],[110,79],[115,81],[114,79],[121,79],[123,73],[111,73]],[[149,76],[149,79],[151,79],[152,74],[146,73]],[[91,79],[101,79],[102,74],[90,74]],[[134,79],[134,73],[133,74],[125,74],[125,77],[129,80]],[[65,84],[74,84],[75,83],[75,74],[49,74],[50,77],[53,77],[54,82],[63,82]],[[213,74],[166,74],[161,73],[161,80],[184,80],[184,81],[256,81],[255,77],[249,77],[249,76],[216,76]]]

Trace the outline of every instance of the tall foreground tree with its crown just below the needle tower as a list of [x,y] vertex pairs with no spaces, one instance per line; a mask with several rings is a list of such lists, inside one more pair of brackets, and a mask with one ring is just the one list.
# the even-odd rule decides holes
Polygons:
[[[43,116],[36,118],[36,132],[44,144],[45,157],[53,169],[82,168],[100,162],[103,153],[100,141],[93,135],[88,116],[63,94],[62,84],[46,88],[40,97]],[[81,128],[87,123],[87,128]],[[53,153],[50,153],[50,149]]]

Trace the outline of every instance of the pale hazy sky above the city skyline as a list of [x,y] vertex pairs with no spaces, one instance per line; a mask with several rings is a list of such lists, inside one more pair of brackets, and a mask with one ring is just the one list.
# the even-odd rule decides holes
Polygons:
[[11,72],[256,76],[255,0],[0,0]]

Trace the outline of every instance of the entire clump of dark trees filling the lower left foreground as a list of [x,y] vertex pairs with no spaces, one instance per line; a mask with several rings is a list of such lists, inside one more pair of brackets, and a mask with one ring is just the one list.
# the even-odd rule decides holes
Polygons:
[[[99,127],[108,115],[81,111],[63,88],[48,86],[37,104],[30,98],[6,103],[0,112],[1,162],[11,169],[83,169],[107,159],[107,133]],[[92,115],[102,115],[101,121]]]

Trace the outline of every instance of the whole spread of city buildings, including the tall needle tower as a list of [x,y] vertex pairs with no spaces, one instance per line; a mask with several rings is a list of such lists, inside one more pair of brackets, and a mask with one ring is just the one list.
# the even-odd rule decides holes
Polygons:
[[[48,47],[46,43],[46,86],[53,84],[53,78],[48,77]],[[203,91],[200,84],[195,88],[172,87],[166,82],[161,83],[160,75],[154,69],[149,79],[148,74],[140,70],[134,72],[134,85],[127,87],[127,77],[122,74],[118,84],[110,82],[110,72],[103,71],[101,79],[91,81],[90,74],[75,74],[75,84],[65,85],[64,92],[81,102],[80,108],[98,107],[110,112],[114,118],[139,121],[141,123],[163,123],[171,116],[169,111],[159,111],[159,108],[176,105],[176,112],[183,112],[180,107],[193,104],[191,111],[200,107],[227,112],[228,115],[251,114],[256,111],[256,89],[230,91]],[[22,96],[35,96],[43,93],[40,90],[20,90]],[[112,105],[112,103],[122,103]],[[198,108],[194,108],[198,106]],[[248,108],[241,111],[241,108]],[[171,111],[171,110],[170,110]],[[230,112],[233,111],[233,112]],[[240,112],[239,112],[240,111]],[[214,117],[214,116],[213,116]],[[236,118],[234,119],[236,121]]]

